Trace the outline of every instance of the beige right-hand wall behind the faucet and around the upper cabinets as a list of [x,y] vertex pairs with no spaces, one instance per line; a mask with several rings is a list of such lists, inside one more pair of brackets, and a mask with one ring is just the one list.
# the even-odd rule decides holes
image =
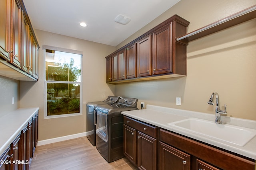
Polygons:
[[[162,21],[177,14],[190,21],[188,32],[255,5],[255,0],[181,0],[116,47],[119,49]],[[116,95],[140,102],[204,113],[218,92],[228,116],[256,120],[256,19],[189,42],[188,76],[116,85]],[[176,106],[181,97],[181,106]],[[215,101],[214,101],[215,102]]]

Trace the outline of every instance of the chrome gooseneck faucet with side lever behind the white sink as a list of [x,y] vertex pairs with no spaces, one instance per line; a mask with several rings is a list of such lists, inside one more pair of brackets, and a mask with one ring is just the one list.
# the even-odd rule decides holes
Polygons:
[[222,122],[221,122],[220,116],[221,116],[221,114],[225,114],[225,115],[227,114],[227,111],[226,111],[227,105],[224,104],[225,110],[220,110],[219,94],[217,92],[212,93],[210,100],[207,102],[208,104],[214,105],[214,103],[212,102],[214,99],[214,95],[216,96],[215,123],[221,124]]

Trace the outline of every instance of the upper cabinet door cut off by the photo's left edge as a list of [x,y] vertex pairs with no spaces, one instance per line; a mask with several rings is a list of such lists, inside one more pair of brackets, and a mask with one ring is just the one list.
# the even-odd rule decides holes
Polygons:
[[0,1],[0,57],[10,61],[11,51],[11,0]]

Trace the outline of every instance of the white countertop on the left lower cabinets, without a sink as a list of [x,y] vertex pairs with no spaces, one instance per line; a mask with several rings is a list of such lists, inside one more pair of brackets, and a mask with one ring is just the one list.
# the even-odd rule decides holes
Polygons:
[[0,156],[21,133],[22,129],[28,125],[38,109],[38,107],[20,108],[0,117]]

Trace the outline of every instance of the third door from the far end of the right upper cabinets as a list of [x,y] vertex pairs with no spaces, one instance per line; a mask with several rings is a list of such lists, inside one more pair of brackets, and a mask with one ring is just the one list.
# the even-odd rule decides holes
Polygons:
[[118,80],[126,79],[126,50],[118,52]]

